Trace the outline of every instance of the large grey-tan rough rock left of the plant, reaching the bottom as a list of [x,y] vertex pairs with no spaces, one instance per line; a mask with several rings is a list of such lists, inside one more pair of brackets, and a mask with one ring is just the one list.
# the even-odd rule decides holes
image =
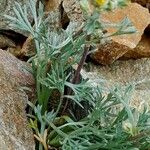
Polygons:
[[22,89],[33,87],[34,79],[25,67],[30,66],[0,50],[0,150],[35,150]]

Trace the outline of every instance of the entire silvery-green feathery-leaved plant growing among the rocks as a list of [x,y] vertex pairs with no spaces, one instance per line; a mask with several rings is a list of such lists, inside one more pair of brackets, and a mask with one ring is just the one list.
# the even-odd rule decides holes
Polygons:
[[[24,7],[15,3],[16,18],[5,15],[13,27],[29,32],[35,41],[35,55],[29,63],[32,64],[37,97],[35,105],[30,103],[33,112],[29,116],[30,127],[39,141],[37,149],[146,150],[150,147],[150,114],[146,108],[137,112],[129,106],[131,87],[124,92],[112,90],[103,97],[99,87],[92,87],[80,75],[86,56],[101,40],[134,33],[135,28],[128,18],[114,25],[106,24],[99,17],[101,11],[122,6],[123,1],[109,1],[100,11],[96,5],[92,13],[88,13],[87,2],[81,1],[85,22],[79,28],[76,23],[70,23],[66,30],[50,27],[49,20],[55,20],[54,14],[45,18],[43,5],[40,3],[36,9],[35,0],[29,0],[28,6]],[[34,26],[28,20],[28,9]],[[109,26],[118,30],[107,34],[104,31]],[[86,110],[83,102],[88,103]],[[53,103],[56,107],[52,107]],[[76,109],[76,105],[86,111],[84,116],[77,118],[72,109]],[[122,109],[114,111],[118,105]]]

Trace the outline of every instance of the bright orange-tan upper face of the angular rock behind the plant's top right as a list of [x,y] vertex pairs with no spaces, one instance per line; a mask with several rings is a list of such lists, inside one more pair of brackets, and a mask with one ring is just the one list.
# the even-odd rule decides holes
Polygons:
[[[128,4],[127,7],[118,8],[113,12],[104,13],[102,18],[107,22],[117,23],[126,16],[132,21],[134,27],[137,29],[137,32],[130,35],[125,34],[121,36],[115,36],[113,37],[113,41],[118,42],[121,45],[128,46],[129,48],[135,48],[141,40],[141,36],[143,35],[145,28],[150,23],[150,14],[147,9],[136,3],[131,3]],[[107,31],[108,33],[113,33],[116,31],[116,29],[108,28]]]

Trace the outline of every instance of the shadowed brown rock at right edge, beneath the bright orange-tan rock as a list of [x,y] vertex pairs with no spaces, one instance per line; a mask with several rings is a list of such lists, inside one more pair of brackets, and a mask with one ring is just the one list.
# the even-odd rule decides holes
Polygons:
[[120,59],[138,59],[144,57],[150,57],[150,35],[148,34],[143,34],[137,47],[125,53]]

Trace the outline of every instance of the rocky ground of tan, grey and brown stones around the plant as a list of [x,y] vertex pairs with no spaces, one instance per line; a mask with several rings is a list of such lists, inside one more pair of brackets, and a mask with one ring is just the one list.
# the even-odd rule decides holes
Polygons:
[[[21,5],[26,3],[26,0],[16,1]],[[97,52],[90,56],[96,65],[91,62],[90,69],[83,72],[91,79],[104,79],[107,88],[134,84],[133,104],[140,107],[141,103],[150,104],[150,1],[133,2],[126,8],[104,13],[102,17],[108,22],[118,22],[128,16],[138,32],[113,37],[98,45]],[[57,13],[55,23],[58,26],[67,28],[70,22],[83,22],[76,0],[45,3],[45,11]],[[14,16],[13,5],[12,0],[1,1],[0,14]],[[30,12],[29,20],[32,23]],[[34,93],[34,80],[25,69],[30,65],[21,60],[27,60],[34,53],[34,43],[29,33],[13,29],[9,24],[5,18],[0,18],[0,150],[32,150],[35,143],[25,113],[31,93],[25,92],[23,87],[29,87]]]

